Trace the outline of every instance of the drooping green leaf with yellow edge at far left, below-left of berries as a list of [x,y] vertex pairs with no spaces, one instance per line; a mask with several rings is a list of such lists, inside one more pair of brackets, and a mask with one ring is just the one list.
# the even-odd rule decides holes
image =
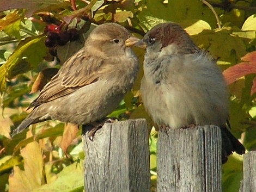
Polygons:
[[46,55],[46,47],[44,46],[45,36],[36,36],[27,38],[20,42],[13,54],[10,55],[7,62],[0,67],[0,91],[5,89],[5,83],[8,79],[13,78],[12,71],[16,67],[16,74],[22,73],[24,70],[19,69],[22,60],[28,61],[31,66],[36,67]]

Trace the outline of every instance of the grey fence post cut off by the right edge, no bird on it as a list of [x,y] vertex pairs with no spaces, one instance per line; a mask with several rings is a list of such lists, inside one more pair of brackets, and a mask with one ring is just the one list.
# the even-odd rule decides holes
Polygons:
[[249,151],[243,156],[243,181],[240,192],[256,191],[256,151]]

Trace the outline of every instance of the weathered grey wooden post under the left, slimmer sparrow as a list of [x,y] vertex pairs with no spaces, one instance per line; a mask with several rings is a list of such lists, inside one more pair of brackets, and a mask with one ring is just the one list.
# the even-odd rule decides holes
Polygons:
[[83,146],[86,192],[150,191],[147,121],[105,123],[94,141],[83,135]]

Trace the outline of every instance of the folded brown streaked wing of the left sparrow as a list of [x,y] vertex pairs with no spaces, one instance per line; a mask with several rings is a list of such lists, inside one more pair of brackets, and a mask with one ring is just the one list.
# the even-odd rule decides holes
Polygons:
[[31,107],[39,106],[41,103],[56,100],[56,98],[71,94],[82,86],[96,82],[105,64],[100,57],[85,56],[81,50],[78,54],[67,60],[57,75],[52,77]]

